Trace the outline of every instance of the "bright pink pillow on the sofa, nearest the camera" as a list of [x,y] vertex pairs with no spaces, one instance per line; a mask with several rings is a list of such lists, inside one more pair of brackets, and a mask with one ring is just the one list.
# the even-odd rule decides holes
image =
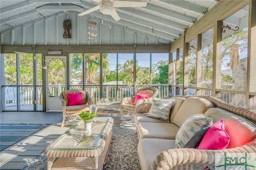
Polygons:
[[204,134],[198,149],[225,149],[230,137],[225,131],[223,119],[214,123]]

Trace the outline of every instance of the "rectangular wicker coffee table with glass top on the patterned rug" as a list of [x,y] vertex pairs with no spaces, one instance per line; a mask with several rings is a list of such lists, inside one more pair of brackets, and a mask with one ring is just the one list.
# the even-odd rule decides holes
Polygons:
[[90,130],[84,130],[83,120],[73,125],[46,147],[47,170],[103,169],[112,139],[112,124],[111,117],[95,117]]

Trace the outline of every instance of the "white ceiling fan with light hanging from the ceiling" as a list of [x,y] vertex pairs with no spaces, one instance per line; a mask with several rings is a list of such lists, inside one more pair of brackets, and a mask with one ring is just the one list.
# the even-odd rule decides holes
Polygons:
[[91,8],[90,10],[84,11],[78,16],[83,16],[85,14],[89,14],[90,12],[100,10],[102,14],[110,15],[114,18],[114,20],[118,21],[121,18],[118,16],[115,7],[143,7],[147,6],[146,1],[120,1],[120,0],[93,0],[98,2],[99,5]]

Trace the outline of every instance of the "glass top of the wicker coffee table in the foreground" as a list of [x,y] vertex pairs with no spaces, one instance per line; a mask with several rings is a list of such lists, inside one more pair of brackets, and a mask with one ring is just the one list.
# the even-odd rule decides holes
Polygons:
[[92,128],[84,130],[84,121],[70,127],[56,138],[46,150],[92,150],[101,146],[102,141],[112,129],[111,117],[94,117]]

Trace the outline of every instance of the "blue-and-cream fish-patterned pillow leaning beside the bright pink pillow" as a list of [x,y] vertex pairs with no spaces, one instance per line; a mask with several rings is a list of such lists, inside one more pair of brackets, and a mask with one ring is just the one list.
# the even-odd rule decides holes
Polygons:
[[212,118],[204,117],[203,114],[188,118],[176,134],[176,148],[196,148],[211,126]]

